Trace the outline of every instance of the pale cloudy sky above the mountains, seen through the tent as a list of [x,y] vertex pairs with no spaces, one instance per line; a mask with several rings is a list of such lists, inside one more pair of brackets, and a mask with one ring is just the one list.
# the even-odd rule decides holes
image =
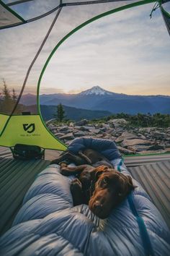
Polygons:
[[[38,1],[37,1],[38,2]],[[40,12],[52,1],[41,1]],[[95,7],[94,7],[95,6]],[[35,7],[17,11],[35,12]],[[68,7],[61,14],[35,62],[24,93],[36,93],[45,61],[58,41],[74,27],[112,8],[107,4]],[[19,9],[20,8],[20,9]],[[170,40],[161,12],[150,19],[153,4],[127,9],[96,20],[69,37],[45,69],[40,94],[79,93],[99,85],[105,90],[131,95],[170,95]],[[82,12],[81,12],[82,10]],[[88,11],[88,12],[87,12]],[[19,93],[27,69],[55,14],[0,32],[0,85],[2,78]],[[28,17],[28,16],[27,16]]]

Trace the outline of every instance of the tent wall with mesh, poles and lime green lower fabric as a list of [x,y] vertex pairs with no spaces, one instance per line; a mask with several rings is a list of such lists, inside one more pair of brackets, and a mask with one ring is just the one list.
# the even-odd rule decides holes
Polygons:
[[[45,2],[48,4],[45,4]],[[167,30],[170,33],[169,0],[0,1],[0,33],[2,37],[4,36],[6,40],[9,40],[8,30],[14,30],[18,38],[19,36],[23,36],[23,33],[29,33],[30,42],[25,42],[25,44],[30,48],[36,40],[35,30],[34,33],[32,33],[32,27],[34,27],[35,23],[37,25],[36,33],[41,34],[41,42],[39,42],[40,48],[36,51],[35,48],[32,49],[29,67],[24,67],[24,61],[19,62],[19,49],[22,48],[22,43],[20,43],[19,40],[16,42],[18,66],[17,69],[14,70],[14,75],[18,72],[21,77],[20,84],[17,85],[19,88],[19,97],[16,98],[14,96],[13,102],[8,103],[8,101],[6,101],[7,108],[5,108],[6,106],[3,105],[0,98],[0,145],[12,148],[17,143],[20,143],[38,145],[41,148],[66,150],[66,145],[55,138],[45,126],[40,111],[40,85],[50,59],[53,54],[55,54],[58,47],[61,46],[68,37],[89,23],[104,16],[114,14],[115,12],[151,3],[155,4],[153,11],[160,8]],[[46,31],[45,34],[41,33],[43,25],[47,23],[49,27],[48,31]],[[21,30],[22,34],[20,33]],[[55,34],[55,41],[50,37],[52,33]],[[10,38],[10,40],[12,40],[12,38]],[[23,47],[24,51],[27,51],[25,45]],[[11,51],[11,54],[14,54],[15,50],[12,49]],[[46,55],[44,56],[46,56],[46,59],[45,57],[42,58],[40,54],[42,51],[45,51]],[[24,72],[19,71],[20,65],[23,65]],[[6,70],[6,73],[7,72],[8,70]],[[34,81],[34,85],[37,85],[37,90],[35,91],[37,95],[36,102],[34,103],[35,108],[32,111],[25,111],[25,109],[23,110],[21,107],[23,93],[29,88],[32,80]]]

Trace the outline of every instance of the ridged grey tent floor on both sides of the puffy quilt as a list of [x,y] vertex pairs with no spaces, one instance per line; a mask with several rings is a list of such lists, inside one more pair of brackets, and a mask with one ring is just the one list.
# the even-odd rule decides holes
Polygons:
[[[52,153],[51,153],[52,152]],[[48,159],[58,155],[49,150]],[[27,190],[49,160],[19,161],[0,147],[0,234],[4,234],[22,205]],[[170,227],[169,155],[132,156],[125,158],[130,174],[143,186]]]

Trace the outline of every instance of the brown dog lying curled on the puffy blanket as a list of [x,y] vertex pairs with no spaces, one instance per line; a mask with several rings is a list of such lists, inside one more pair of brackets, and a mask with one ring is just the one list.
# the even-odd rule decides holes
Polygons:
[[135,188],[130,176],[104,165],[72,167],[61,163],[61,174],[76,174],[77,178],[71,182],[73,205],[85,203],[99,218],[107,218]]

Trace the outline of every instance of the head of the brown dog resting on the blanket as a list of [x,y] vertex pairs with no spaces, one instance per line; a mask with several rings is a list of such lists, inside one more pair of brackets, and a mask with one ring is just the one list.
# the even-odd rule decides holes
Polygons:
[[106,166],[96,168],[93,176],[96,180],[89,208],[99,218],[107,218],[112,209],[119,205],[135,186],[130,176]]

